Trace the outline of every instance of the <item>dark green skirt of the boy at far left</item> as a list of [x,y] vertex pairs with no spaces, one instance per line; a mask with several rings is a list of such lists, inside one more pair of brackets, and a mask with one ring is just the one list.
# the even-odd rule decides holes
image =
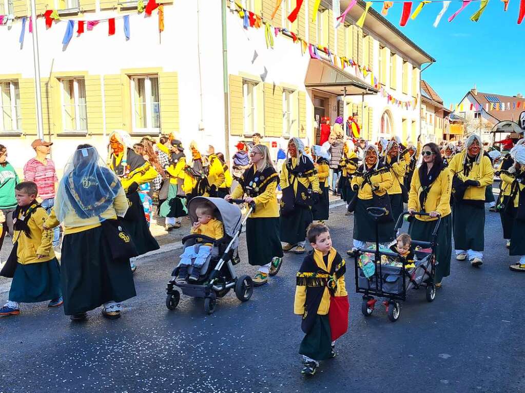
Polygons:
[[17,264],[9,300],[20,303],[38,303],[61,296],[60,267],[57,258],[36,264]]

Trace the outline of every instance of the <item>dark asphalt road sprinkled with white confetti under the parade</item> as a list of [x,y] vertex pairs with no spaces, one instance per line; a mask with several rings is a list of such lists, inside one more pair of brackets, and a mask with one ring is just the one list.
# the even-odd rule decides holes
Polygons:
[[[352,238],[343,212],[333,209],[328,222],[341,254]],[[485,233],[485,264],[453,260],[436,300],[413,291],[395,323],[379,302],[372,316],[361,314],[349,264],[350,329],[337,357],[312,378],[300,374],[303,334],[293,314],[301,256],[287,254],[279,275],[250,301],[241,304],[231,292],[206,316],[193,298],[183,296],[175,311],[164,305],[178,251],[141,261],[139,295],[120,320],[96,310],[87,322],[71,323],[45,303],[0,319],[0,393],[525,391],[525,276],[508,268],[514,258],[496,213],[487,213]],[[240,255],[239,274],[253,274],[244,238]]]

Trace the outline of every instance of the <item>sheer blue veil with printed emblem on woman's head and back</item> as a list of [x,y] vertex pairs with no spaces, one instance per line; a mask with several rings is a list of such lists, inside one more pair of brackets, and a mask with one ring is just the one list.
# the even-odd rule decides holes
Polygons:
[[71,212],[81,219],[98,217],[99,222],[104,221],[101,214],[110,208],[121,188],[117,175],[104,165],[95,147],[75,150],[58,185],[58,221],[63,222]]

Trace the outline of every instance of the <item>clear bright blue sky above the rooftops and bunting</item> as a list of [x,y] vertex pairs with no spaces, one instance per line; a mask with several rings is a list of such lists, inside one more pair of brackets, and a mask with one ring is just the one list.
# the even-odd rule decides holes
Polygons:
[[[412,10],[419,4],[414,2]],[[457,103],[476,84],[478,91],[525,95],[525,20],[517,24],[519,0],[490,0],[477,23],[470,16],[479,9],[472,1],[453,21],[448,17],[461,6],[450,3],[437,28],[433,26],[442,3],[426,4],[415,20],[399,26],[403,5],[394,3],[386,17],[403,34],[430,54],[436,63],[422,73],[448,107]],[[382,3],[373,7],[381,12]]]

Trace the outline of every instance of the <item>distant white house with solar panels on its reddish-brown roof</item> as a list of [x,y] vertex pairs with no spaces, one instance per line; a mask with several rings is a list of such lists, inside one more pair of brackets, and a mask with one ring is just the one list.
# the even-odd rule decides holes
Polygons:
[[476,86],[460,101],[455,114],[465,119],[467,133],[476,133],[482,141],[490,142],[490,131],[505,120],[519,121],[525,99],[520,93],[509,96],[478,92]]

